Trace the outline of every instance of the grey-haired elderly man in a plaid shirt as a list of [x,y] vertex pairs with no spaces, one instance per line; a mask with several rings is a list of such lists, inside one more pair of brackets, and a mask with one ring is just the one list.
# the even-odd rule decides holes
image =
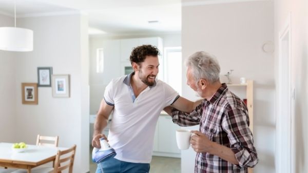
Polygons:
[[165,110],[180,126],[200,124],[190,139],[197,152],[195,172],[247,172],[258,157],[246,105],[220,83],[220,66],[213,55],[196,52],[187,67],[187,85],[204,100],[191,113]]

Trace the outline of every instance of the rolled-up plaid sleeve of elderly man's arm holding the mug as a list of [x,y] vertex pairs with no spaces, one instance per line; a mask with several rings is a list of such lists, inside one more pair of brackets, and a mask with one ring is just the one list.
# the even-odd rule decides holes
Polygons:
[[254,167],[259,159],[254,146],[253,134],[249,129],[249,118],[246,110],[233,108],[222,119],[222,128],[227,133],[230,148],[240,167]]

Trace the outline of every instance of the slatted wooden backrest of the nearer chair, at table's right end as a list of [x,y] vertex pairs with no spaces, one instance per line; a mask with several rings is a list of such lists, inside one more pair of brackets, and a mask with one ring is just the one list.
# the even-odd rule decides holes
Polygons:
[[76,152],[76,145],[73,145],[71,148],[66,150],[58,150],[55,162],[53,173],[61,172],[64,169],[68,169],[69,173],[73,172],[73,164]]

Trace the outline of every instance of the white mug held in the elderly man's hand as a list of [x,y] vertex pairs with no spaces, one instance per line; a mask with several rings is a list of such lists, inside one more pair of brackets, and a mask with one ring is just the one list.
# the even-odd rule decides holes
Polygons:
[[176,131],[177,145],[179,149],[189,148],[191,134],[192,132],[190,130],[179,129]]

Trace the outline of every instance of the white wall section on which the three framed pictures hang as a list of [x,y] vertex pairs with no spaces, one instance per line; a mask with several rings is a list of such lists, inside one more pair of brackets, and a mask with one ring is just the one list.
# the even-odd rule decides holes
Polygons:
[[[77,145],[74,172],[89,170],[87,18],[81,14],[28,17],[18,26],[34,32],[34,50],[16,53],[16,140],[35,144],[37,134],[59,136],[59,146]],[[38,87],[38,105],[21,100],[21,83],[37,83],[37,67],[70,74],[70,98],[53,98]],[[7,115],[8,116],[8,115]]]

